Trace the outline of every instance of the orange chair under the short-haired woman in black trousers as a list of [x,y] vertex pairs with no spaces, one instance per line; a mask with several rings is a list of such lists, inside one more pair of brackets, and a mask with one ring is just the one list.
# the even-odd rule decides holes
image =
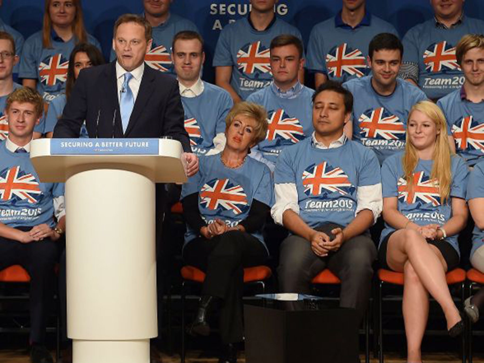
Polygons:
[[[243,282],[245,284],[258,285],[265,292],[265,280],[272,276],[272,271],[267,266],[255,266],[243,269]],[[181,268],[181,363],[185,363],[185,285],[187,283],[203,283],[205,272],[194,266],[184,266]]]

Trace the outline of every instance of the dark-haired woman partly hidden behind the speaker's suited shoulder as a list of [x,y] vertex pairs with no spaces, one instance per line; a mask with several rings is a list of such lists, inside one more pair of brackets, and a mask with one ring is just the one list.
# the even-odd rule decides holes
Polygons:
[[[69,58],[69,67],[67,69],[67,81],[65,82],[65,93],[61,93],[55,98],[49,106],[45,118],[44,134],[46,137],[52,137],[57,120],[62,116],[65,104],[69,95],[74,88],[79,72],[84,68],[104,64],[104,58],[98,48],[94,45],[79,43],[76,45]],[[89,137],[86,126],[81,127],[80,137]]]

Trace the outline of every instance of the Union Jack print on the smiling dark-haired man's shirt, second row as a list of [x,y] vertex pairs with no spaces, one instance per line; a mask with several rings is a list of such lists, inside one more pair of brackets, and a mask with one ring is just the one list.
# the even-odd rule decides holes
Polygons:
[[386,140],[404,140],[405,125],[395,115],[383,107],[365,111],[360,118],[360,134],[362,137]]

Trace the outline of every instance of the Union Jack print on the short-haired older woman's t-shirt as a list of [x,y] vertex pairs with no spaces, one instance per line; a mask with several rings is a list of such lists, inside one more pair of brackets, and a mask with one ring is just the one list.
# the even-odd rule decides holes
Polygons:
[[241,214],[249,209],[242,186],[228,179],[212,179],[200,191],[200,204],[207,209],[232,211]]

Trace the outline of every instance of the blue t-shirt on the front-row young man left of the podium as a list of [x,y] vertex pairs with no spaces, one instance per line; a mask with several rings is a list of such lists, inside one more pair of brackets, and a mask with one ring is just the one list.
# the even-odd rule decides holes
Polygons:
[[55,226],[55,197],[64,195],[63,183],[41,183],[30,153],[15,153],[0,143],[0,222],[9,227]]

